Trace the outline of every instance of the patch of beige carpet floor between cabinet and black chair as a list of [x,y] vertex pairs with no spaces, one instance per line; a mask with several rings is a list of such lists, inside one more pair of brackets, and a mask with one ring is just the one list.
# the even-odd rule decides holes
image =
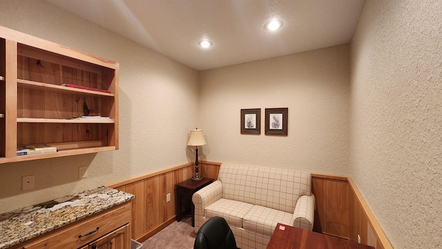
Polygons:
[[191,217],[171,225],[143,242],[143,249],[192,249],[196,233],[192,227]]

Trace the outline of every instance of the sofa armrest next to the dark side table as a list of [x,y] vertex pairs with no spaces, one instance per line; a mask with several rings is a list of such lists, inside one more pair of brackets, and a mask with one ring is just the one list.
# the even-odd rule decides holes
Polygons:
[[195,232],[198,232],[202,224],[206,222],[204,209],[218,201],[222,197],[222,183],[217,180],[201,190],[198,190],[192,196],[193,205],[195,205]]

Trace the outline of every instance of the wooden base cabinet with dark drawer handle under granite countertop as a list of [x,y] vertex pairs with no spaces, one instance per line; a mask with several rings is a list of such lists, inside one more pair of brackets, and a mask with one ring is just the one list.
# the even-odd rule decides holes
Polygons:
[[124,203],[88,219],[43,234],[12,248],[129,249],[131,203]]

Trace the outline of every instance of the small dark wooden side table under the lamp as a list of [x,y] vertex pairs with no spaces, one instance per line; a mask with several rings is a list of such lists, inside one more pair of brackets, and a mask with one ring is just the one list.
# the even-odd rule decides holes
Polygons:
[[203,187],[211,184],[213,182],[212,178],[203,177],[200,181],[193,181],[192,179],[183,181],[181,183],[175,184],[177,188],[177,198],[176,198],[176,214],[177,221],[181,221],[182,211],[184,212],[189,210],[189,205],[191,208],[191,216],[192,216],[192,226],[195,227],[195,205],[192,203],[192,195],[193,193],[201,190]]

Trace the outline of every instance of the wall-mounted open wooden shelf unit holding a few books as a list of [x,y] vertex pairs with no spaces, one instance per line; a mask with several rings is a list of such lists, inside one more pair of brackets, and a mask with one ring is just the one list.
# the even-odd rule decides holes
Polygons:
[[[118,76],[117,62],[0,27],[0,163],[118,149]],[[41,144],[59,151],[16,156]]]

